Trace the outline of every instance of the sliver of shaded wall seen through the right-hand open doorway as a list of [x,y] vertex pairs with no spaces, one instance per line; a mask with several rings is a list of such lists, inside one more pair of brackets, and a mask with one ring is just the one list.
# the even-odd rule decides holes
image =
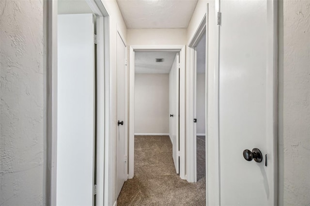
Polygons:
[[197,74],[196,132],[205,134],[205,73]]

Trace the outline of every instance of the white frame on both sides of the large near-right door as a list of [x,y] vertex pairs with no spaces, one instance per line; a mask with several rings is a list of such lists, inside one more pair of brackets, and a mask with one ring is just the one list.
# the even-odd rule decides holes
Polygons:
[[[274,173],[272,178],[274,179],[273,191],[270,191],[270,198],[272,205],[278,205],[278,2],[277,0],[266,0],[267,4],[267,22],[268,22],[268,51],[267,51],[267,68],[269,69],[266,77],[266,88],[267,88],[267,117],[266,124],[272,125],[266,128],[266,134],[273,138],[268,138],[267,145],[270,150],[273,151],[273,158],[271,157],[269,162],[273,165]],[[220,14],[220,0],[215,1],[215,19],[217,21],[217,14]],[[219,133],[219,34],[220,34],[220,23],[215,24],[215,67],[214,76],[209,76],[213,78],[213,96],[214,101],[211,102],[208,98],[208,104],[212,103],[215,112],[212,115],[208,115],[208,121],[213,120],[213,128],[208,132],[212,132],[212,136],[209,135],[207,149],[209,154],[206,158],[206,175],[207,175],[207,185],[206,185],[206,206],[220,206],[221,205],[221,194],[220,194],[220,133]],[[209,83],[210,86],[210,83]],[[210,112],[211,113],[211,112]]]

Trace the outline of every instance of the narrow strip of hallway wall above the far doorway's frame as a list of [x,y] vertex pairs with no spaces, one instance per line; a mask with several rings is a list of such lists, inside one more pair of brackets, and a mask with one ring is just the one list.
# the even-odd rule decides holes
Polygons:
[[130,45],[186,44],[186,29],[128,29]]

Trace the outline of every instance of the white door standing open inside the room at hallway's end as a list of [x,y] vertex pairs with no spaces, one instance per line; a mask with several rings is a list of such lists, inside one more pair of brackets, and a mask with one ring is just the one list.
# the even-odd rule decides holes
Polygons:
[[179,174],[179,54],[175,56],[169,73],[169,135],[172,140],[172,158]]

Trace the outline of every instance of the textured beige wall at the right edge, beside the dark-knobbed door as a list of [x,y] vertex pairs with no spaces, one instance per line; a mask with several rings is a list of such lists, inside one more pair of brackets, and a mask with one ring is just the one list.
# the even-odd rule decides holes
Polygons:
[[310,1],[279,1],[279,205],[310,205]]

